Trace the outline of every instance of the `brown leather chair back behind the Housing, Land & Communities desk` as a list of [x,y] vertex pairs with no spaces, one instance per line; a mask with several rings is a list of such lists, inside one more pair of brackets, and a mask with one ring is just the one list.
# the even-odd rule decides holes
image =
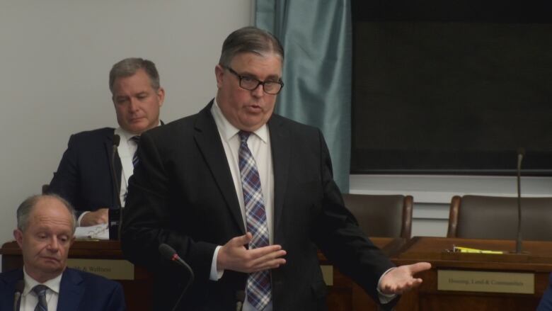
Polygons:
[[[454,196],[447,237],[516,239],[517,198]],[[522,198],[522,239],[552,241],[552,198]]]

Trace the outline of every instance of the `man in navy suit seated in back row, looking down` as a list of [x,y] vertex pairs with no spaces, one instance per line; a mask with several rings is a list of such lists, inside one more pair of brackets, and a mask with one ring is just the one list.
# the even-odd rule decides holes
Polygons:
[[[161,124],[159,110],[165,91],[153,62],[141,58],[117,62],[109,73],[109,89],[120,127],[71,135],[48,188],[75,206],[81,226],[105,223],[109,208],[117,207],[119,201],[125,205],[139,135]],[[120,137],[114,167],[120,185],[116,193],[110,169],[114,135]]]

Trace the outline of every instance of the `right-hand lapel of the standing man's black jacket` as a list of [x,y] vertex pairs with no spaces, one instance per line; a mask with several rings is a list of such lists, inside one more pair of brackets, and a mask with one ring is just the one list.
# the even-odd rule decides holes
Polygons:
[[280,217],[284,207],[287,176],[289,174],[289,142],[291,137],[289,137],[287,128],[282,126],[282,118],[279,115],[272,115],[268,121],[268,129],[270,130],[270,147],[272,149],[272,167],[274,171],[274,232],[280,232]]

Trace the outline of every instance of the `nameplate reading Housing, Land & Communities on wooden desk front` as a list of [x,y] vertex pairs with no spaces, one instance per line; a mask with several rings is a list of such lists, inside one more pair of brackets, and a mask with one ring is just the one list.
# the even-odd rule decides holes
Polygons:
[[437,290],[534,294],[534,273],[438,270]]

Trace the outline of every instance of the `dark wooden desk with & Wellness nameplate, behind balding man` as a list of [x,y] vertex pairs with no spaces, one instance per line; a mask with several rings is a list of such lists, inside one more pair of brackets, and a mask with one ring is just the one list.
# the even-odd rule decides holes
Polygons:
[[[21,249],[19,249],[16,242],[7,242],[2,245],[0,254],[2,255],[2,271],[9,271],[23,266]],[[76,241],[69,249],[69,258],[124,260],[118,241]],[[151,273],[140,266],[134,266],[134,280],[117,280],[125,290],[128,310],[152,310],[152,280]]]

